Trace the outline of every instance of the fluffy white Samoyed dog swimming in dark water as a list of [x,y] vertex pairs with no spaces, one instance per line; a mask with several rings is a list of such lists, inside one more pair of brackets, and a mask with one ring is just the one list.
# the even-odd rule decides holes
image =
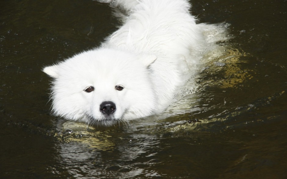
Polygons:
[[123,25],[93,50],[43,71],[57,116],[106,126],[163,112],[206,44],[187,0],[107,0]]

